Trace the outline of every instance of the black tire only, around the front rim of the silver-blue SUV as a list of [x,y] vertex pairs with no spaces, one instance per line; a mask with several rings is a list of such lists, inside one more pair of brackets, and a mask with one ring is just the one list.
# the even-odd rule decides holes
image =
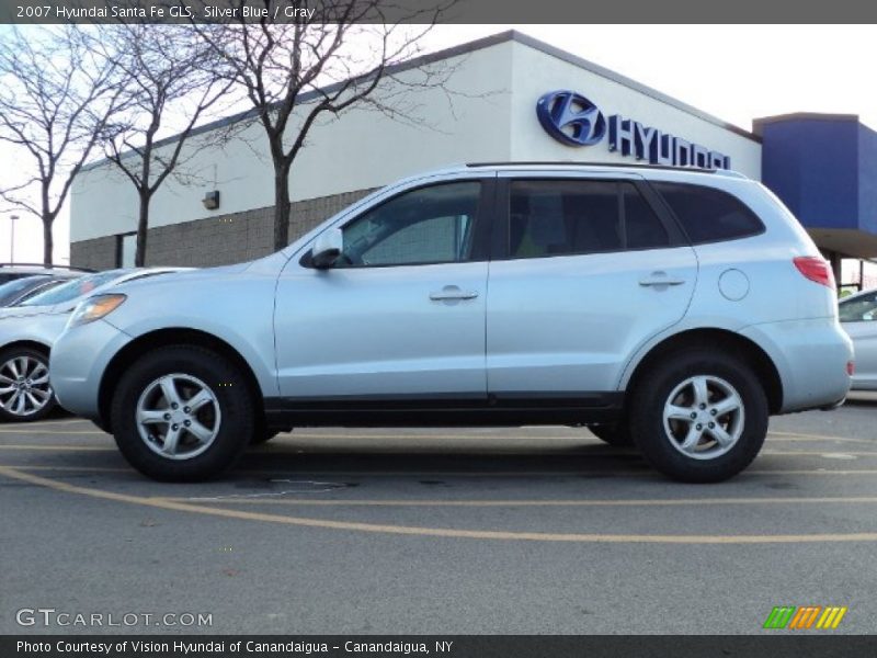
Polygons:
[[[157,392],[156,383],[171,374],[200,381],[212,394],[212,401],[205,407],[213,422],[210,418],[198,420],[212,430],[214,439],[205,442],[207,447],[201,454],[182,460],[157,452],[161,449],[161,426],[164,426],[167,435],[170,423],[158,422],[157,436],[147,441],[141,436],[137,422],[138,401],[141,396],[149,395],[148,392],[159,395],[158,407],[167,405],[163,394]],[[194,396],[186,398],[179,385],[178,393],[182,405],[186,399],[194,399]],[[214,405],[218,406],[218,412]],[[185,406],[182,408],[187,409]],[[254,427],[253,400],[238,367],[220,354],[194,345],[161,348],[136,361],[118,382],[111,413],[116,444],[128,463],[144,475],[164,481],[198,481],[220,475],[250,444]],[[186,442],[195,440],[194,433],[181,430],[180,443],[184,450]]]

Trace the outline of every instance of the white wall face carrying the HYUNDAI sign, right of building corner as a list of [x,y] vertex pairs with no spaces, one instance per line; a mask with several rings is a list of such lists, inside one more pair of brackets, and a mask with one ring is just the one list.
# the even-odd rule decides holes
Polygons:
[[633,157],[608,150],[608,135],[594,146],[571,147],[560,144],[543,129],[536,118],[536,101],[549,91],[569,89],[596,104],[607,120],[613,114],[622,114],[625,118],[724,152],[730,156],[732,169],[761,180],[761,145],[758,141],[525,44],[514,43],[513,46],[513,160],[636,163]]

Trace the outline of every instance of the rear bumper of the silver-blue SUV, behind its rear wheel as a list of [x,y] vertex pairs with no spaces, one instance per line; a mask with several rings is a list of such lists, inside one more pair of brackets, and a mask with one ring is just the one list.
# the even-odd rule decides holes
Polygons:
[[852,378],[853,342],[834,318],[765,322],[741,334],[771,356],[783,384],[781,412],[833,407],[843,402]]

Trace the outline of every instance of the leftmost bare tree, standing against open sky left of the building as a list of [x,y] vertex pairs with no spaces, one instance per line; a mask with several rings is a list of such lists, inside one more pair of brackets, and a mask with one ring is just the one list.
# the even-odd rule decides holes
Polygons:
[[89,33],[11,27],[0,39],[0,140],[22,155],[22,178],[0,198],[43,220],[43,261],[73,178],[94,150],[121,95],[115,61],[95,58]]

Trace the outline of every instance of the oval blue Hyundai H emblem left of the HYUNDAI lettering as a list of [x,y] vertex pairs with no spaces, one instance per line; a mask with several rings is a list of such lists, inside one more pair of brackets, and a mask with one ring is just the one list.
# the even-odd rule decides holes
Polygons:
[[606,120],[591,101],[574,91],[549,91],[536,103],[542,127],[571,146],[591,146],[606,135]]

